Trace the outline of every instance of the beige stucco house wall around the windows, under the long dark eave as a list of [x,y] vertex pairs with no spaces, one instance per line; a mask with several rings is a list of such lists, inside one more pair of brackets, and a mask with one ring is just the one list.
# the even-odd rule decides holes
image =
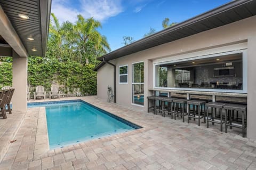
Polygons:
[[[117,103],[124,104],[126,106],[133,106],[132,103],[132,63],[144,61],[144,72],[145,72],[145,99],[147,98],[150,92],[148,88],[153,87],[153,62],[152,60],[169,58],[174,59],[175,56],[186,53],[198,53],[201,51],[209,51],[212,53],[218,53],[218,50],[229,49],[229,46],[236,46],[237,44],[243,43],[247,46],[247,59],[248,59],[248,128],[247,128],[247,137],[251,139],[256,139],[256,133],[253,133],[253,129],[256,128],[256,114],[253,113],[253,110],[256,110],[256,105],[253,105],[253,101],[256,100],[256,78],[253,75],[256,72],[256,16],[250,17],[241,21],[230,23],[229,25],[204,31],[202,33],[192,35],[186,38],[179,39],[174,42],[166,43],[159,45],[147,50],[133,53],[130,55],[123,56],[122,58],[115,59],[116,64],[116,77],[117,77]],[[128,75],[128,84],[118,84],[118,67],[128,64],[129,75]],[[98,76],[102,77],[101,74],[104,74],[105,68],[101,68],[98,71]],[[98,82],[105,82],[106,78],[98,78]],[[98,86],[100,87],[100,86]],[[102,90],[98,88],[98,96],[103,96]],[[104,98],[103,98],[104,99]],[[137,107],[137,106],[133,106]],[[147,110],[147,100],[145,100],[144,107],[139,107],[140,109]],[[252,123],[250,123],[252,122]]]

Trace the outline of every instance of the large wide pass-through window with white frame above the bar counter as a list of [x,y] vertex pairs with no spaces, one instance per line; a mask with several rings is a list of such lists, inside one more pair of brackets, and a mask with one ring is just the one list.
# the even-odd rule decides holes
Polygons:
[[246,63],[247,53],[244,50],[156,64],[155,87],[245,92]]

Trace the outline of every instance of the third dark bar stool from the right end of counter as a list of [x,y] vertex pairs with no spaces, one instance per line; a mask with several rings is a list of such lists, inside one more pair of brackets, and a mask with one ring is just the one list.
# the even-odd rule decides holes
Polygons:
[[[205,103],[206,101],[204,100],[189,100],[187,102],[188,104],[188,123],[190,118],[198,119],[198,126],[200,126],[200,120],[204,118],[204,123],[205,123]],[[193,112],[190,113],[190,106],[193,106]],[[204,107],[204,112],[202,111]],[[196,108],[198,108],[198,117],[196,117]],[[201,116],[201,113],[204,115]]]

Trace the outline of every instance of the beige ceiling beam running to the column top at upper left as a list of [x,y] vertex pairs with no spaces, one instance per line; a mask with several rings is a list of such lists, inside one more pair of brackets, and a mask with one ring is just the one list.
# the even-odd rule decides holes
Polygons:
[[21,57],[27,57],[28,52],[22,44],[18,34],[12,27],[12,24],[4,10],[0,6],[0,35],[13,48],[13,50]]

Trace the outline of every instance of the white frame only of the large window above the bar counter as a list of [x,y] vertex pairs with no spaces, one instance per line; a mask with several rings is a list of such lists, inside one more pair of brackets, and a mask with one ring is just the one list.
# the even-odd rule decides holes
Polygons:
[[[203,58],[212,58],[214,56],[221,56],[221,55],[228,55],[228,54],[236,54],[236,53],[242,53],[243,58],[243,90],[227,90],[227,89],[209,89],[209,88],[180,88],[180,87],[156,87],[156,66],[160,64],[167,64],[167,63],[177,63],[180,61],[191,61],[196,59],[203,59]],[[189,55],[189,54],[188,54]],[[187,55],[187,56],[188,56]],[[177,57],[177,56],[176,56]],[[179,56],[178,56],[179,57]],[[209,92],[228,92],[228,93],[247,93],[247,48],[241,49],[241,50],[233,50],[229,52],[220,52],[220,53],[214,53],[214,54],[206,54],[202,56],[193,56],[187,58],[181,58],[180,60],[170,60],[170,61],[164,61],[166,59],[163,59],[163,62],[161,60],[157,60],[158,62],[153,63],[153,87],[155,89],[166,89],[166,90],[184,90],[184,91],[209,91]]]

